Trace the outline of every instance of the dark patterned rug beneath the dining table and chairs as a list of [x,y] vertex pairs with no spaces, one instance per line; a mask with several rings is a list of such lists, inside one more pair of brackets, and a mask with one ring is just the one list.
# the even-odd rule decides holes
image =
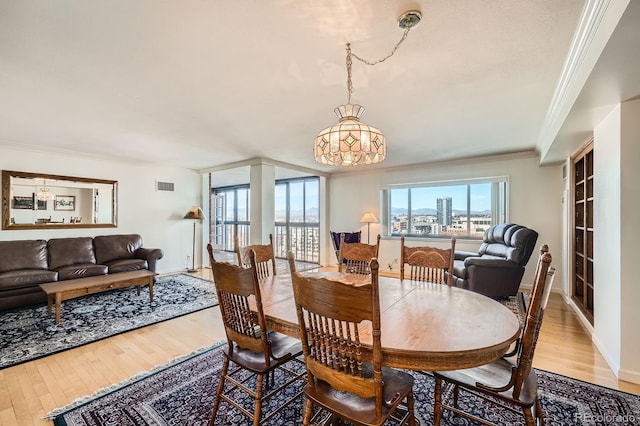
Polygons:
[[[185,360],[144,373],[127,383],[99,391],[97,395],[75,401],[52,411],[47,418],[57,426],[141,426],[206,425],[213,406],[222,351],[209,348]],[[433,424],[433,378],[415,376],[415,413],[422,425]],[[279,378],[278,378],[279,379]],[[618,392],[561,375],[538,370],[542,406],[549,425],[636,425],[640,422],[640,396]],[[269,413],[279,401],[295,395],[302,387],[296,383],[264,406]],[[238,396],[237,400],[243,400]],[[251,401],[244,399],[249,407]],[[459,403],[475,414],[498,425],[522,425],[521,416],[497,410],[461,391]],[[302,398],[290,409],[276,415],[269,424],[301,424]],[[248,419],[228,404],[222,404],[216,424],[244,425]],[[447,412],[443,424],[470,425]]]

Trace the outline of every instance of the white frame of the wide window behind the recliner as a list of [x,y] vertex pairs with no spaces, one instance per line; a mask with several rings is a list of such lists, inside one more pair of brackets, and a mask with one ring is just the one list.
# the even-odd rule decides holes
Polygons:
[[[474,184],[502,184],[503,188],[498,188],[497,191],[492,189],[491,191],[491,225],[496,225],[498,223],[508,223],[509,222],[509,176],[489,176],[489,177],[479,177],[479,178],[469,178],[469,179],[452,179],[452,180],[442,180],[442,181],[424,181],[424,182],[412,182],[412,183],[400,183],[400,184],[389,184],[380,186],[380,201],[381,201],[381,234],[385,238],[399,238],[401,235],[404,235],[407,238],[415,238],[421,240],[441,240],[445,238],[451,238],[451,236],[455,236],[459,240],[480,240],[481,236],[473,236],[470,234],[470,226],[471,221],[467,220],[467,232],[465,234],[455,234],[455,233],[446,233],[442,235],[437,234],[409,234],[409,233],[400,233],[393,232],[393,224],[392,213],[391,213],[391,191],[397,189],[417,189],[417,188],[436,188],[443,186],[467,186],[467,213],[470,213],[471,210],[471,193],[470,186]],[[407,193],[407,207],[411,209],[411,192]],[[435,207],[435,206],[434,206]],[[467,214],[467,217],[470,217]],[[411,215],[409,215],[408,220],[411,219]]]

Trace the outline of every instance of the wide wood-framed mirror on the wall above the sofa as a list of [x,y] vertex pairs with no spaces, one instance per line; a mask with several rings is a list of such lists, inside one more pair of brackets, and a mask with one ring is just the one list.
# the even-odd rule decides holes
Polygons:
[[115,180],[2,171],[2,229],[115,228]]

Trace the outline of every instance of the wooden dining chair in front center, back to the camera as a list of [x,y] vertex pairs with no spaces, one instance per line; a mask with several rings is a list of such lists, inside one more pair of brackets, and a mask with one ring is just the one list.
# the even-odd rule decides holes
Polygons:
[[[371,283],[354,285],[307,277],[287,255],[307,366],[303,424],[415,424],[413,376],[382,366],[378,260],[371,259]],[[370,324],[371,333],[362,331]],[[360,333],[371,335],[369,349]],[[313,415],[314,406],[322,408]],[[327,412],[331,413],[326,416]]]

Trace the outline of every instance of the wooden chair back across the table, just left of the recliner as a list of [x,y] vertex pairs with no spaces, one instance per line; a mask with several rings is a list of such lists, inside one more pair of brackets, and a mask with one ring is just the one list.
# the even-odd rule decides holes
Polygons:
[[416,281],[428,281],[453,285],[453,260],[456,251],[456,238],[451,238],[451,248],[419,246],[407,247],[404,235],[400,237],[400,279],[404,280],[405,265],[409,265],[408,278]]

